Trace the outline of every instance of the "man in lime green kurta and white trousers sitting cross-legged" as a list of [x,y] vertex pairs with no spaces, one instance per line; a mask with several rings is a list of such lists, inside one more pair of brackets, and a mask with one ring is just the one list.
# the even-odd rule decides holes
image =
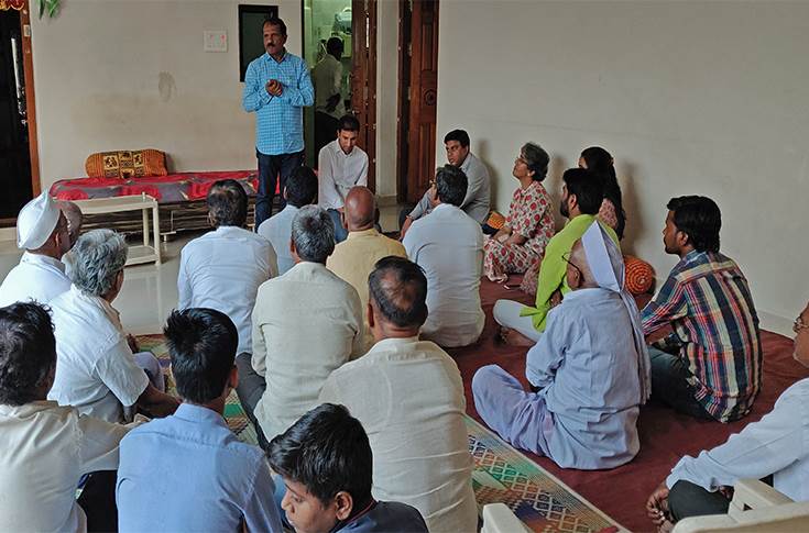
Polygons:
[[[548,310],[570,290],[565,276],[567,263],[562,255],[569,253],[573,243],[592,225],[604,199],[603,179],[589,170],[569,168],[561,179],[565,184],[559,211],[568,222],[545,247],[545,256],[539,264],[536,306],[526,307],[511,300],[498,300],[494,303],[493,314],[502,326],[501,336],[511,344],[528,346],[539,340],[545,331]],[[604,230],[617,245],[615,232],[605,225]]]

